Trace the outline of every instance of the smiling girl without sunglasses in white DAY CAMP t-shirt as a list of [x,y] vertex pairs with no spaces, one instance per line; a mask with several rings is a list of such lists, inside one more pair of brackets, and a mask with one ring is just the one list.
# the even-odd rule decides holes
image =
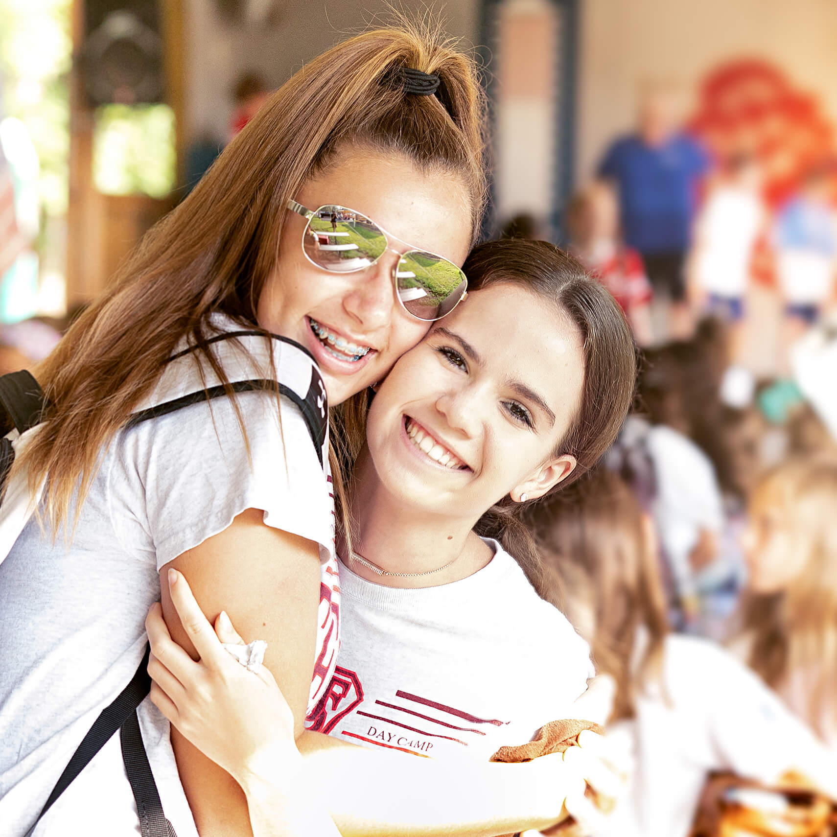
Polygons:
[[[484,244],[465,272],[468,300],[377,389],[352,470],[351,546],[338,537],[345,630],[336,674],[308,722],[334,737],[333,762],[317,753],[310,763],[317,783],[340,778],[321,807],[343,834],[394,834],[402,824],[410,833],[434,824],[435,833],[547,828],[550,819],[534,812],[467,828],[445,822],[424,768],[431,760],[452,768],[458,792],[490,808],[490,791],[475,791],[471,778],[492,753],[548,721],[588,717],[573,706],[592,675],[588,647],[527,580],[524,568],[536,584],[539,574],[521,518],[614,440],[633,393],[634,343],[608,291],[551,244]],[[175,582],[188,612],[186,585]],[[308,771],[288,746],[280,695],[218,654],[199,614],[187,622],[203,625],[199,663],[168,638],[158,605],[149,614],[151,700],[239,781],[254,833],[274,833],[277,799],[289,788],[305,798]],[[235,641],[224,622],[223,641]],[[373,752],[358,756],[347,743]],[[511,788],[516,771],[557,759],[564,772],[545,795],[560,804],[570,793],[567,807],[589,815],[573,783],[583,789],[586,778],[607,793],[612,780],[602,761],[572,749],[575,766],[547,756],[495,767]],[[375,811],[360,827],[350,816],[358,798]],[[230,833],[247,834],[247,820]]]

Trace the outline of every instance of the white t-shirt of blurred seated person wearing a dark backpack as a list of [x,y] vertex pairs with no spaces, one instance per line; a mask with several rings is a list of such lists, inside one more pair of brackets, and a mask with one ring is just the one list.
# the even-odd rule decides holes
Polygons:
[[651,511],[660,542],[678,592],[690,595],[696,591],[696,578],[689,556],[701,529],[720,532],[724,524],[723,498],[715,468],[691,439],[665,424],[649,430],[648,451],[657,480]]

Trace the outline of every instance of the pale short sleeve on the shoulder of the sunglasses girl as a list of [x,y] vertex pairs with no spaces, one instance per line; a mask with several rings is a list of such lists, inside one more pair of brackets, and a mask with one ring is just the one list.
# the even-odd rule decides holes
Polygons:
[[[333,501],[305,420],[272,393],[202,401],[126,429],[110,470],[111,518],[126,547],[159,569],[249,508],[333,549]],[[143,555],[142,557],[148,557]]]

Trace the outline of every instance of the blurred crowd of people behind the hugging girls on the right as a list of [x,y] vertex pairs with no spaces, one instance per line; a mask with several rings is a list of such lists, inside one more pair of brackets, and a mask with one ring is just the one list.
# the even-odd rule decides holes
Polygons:
[[[608,834],[833,833],[806,789],[837,754],[835,183],[821,157],[768,198],[754,149],[710,155],[653,90],[564,213],[642,354],[606,462],[531,518],[634,751]],[[760,281],[783,321],[769,376],[742,359]]]

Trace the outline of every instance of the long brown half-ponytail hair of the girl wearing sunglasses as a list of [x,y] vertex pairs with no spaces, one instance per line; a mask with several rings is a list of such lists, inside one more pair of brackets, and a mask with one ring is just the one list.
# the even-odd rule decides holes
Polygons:
[[[403,67],[439,76],[437,94],[406,93],[397,83]],[[438,32],[409,23],[349,39],[292,76],[146,235],[39,370],[49,399],[44,429],[14,467],[28,467],[33,489],[49,475],[54,531],[67,521],[77,488],[84,498],[101,451],[179,341],[193,341],[201,362],[226,382],[208,351],[207,317],[223,311],[255,325],[280,255],[285,204],[336,164],[338,149],[403,154],[423,171],[460,178],[475,237],[485,194],[484,111],[474,62]],[[335,482],[339,489],[339,473]]]

